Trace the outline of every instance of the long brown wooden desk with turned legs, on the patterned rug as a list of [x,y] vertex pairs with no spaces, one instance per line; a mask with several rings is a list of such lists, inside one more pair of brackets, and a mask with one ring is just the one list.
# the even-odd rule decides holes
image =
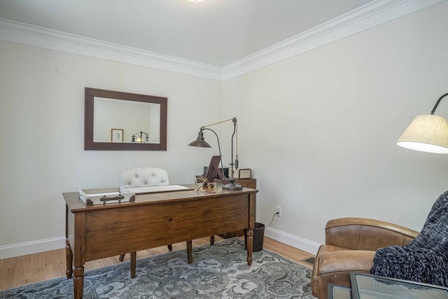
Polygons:
[[[195,185],[186,185],[195,189]],[[182,190],[136,195],[135,202],[86,206],[78,192],[66,202],[66,275],[74,298],[83,298],[84,263],[136,251],[247,229],[247,264],[252,263],[255,195],[258,190],[197,193]],[[191,242],[189,242],[191,246]],[[190,258],[189,258],[190,259]],[[190,260],[189,260],[190,261]]]

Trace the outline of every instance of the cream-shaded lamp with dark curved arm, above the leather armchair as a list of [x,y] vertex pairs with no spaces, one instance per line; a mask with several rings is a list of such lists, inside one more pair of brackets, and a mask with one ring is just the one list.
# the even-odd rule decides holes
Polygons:
[[397,144],[404,148],[428,153],[448,153],[448,120],[443,116],[434,115],[445,93],[437,99],[430,114],[419,115],[412,120]]

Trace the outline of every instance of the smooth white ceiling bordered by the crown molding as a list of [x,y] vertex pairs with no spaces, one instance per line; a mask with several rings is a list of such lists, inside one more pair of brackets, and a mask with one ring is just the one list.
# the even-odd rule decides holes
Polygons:
[[372,0],[0,0],[0,18],[224,67]]

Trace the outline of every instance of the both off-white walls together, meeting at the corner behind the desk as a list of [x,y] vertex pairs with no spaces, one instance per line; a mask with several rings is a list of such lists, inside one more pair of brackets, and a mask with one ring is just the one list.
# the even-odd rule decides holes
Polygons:
[[[266,235],[314,251],[339,216],[420,229],[448,189],[448,157],[395,141],[448,92],[447,11],[444,1],[224,83],[1,41],[0,258],[63,246],[62,192],[116,186],[138,165],[192,182],[216,147],[186,145],[233,116],[257,221],[282,207]],[[168,151],[84,151],[85,87],[168,97]],[[225,163],[231,127],[216,126]]]

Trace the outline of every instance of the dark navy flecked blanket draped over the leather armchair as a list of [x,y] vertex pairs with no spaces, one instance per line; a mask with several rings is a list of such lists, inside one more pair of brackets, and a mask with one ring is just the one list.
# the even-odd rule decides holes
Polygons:
[[435,201],[412,242],[377,250],[370,273],[448,286],[448,191]]

